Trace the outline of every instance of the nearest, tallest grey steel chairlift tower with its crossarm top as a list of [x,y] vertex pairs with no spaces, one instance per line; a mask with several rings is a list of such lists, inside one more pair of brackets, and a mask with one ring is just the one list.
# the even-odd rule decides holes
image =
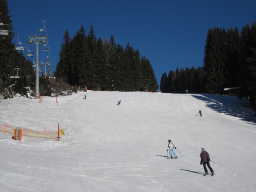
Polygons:
[[[45,21],[42,21],[42,23],[45,23]],[[46,30],[40,29],[37,30],[36,34],[34,36],[28,36],[29,44],[36,44],[36,93],[35,98],[39,98],[39,62],[38,62],[38,45],[39,43],[47,44],[47,32]]]

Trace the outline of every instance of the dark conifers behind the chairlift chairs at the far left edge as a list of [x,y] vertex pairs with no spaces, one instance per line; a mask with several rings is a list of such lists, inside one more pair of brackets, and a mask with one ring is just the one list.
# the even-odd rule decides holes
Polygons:
[[[0,28],[9,30],[8,36],[0,36],[0,93],[24,94],[28,87],[33,86],[31,77],[34,77],[34,70],[32,62],[26,60],[22,52],[14,50],[14,44],[12,44],[14,33],[9,12],[7,1],[0,0],[0,23],[4,24]],[[19,78],[10,78],[10,76],[17,76],[17,68]]]

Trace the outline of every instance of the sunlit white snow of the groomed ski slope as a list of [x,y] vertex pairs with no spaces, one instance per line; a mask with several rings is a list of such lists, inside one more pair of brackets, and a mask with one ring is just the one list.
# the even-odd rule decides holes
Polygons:
[[[54,131],[59,123],[65,136],[60,142],[14,141],[0,133],[0,192],[256,191],[256,119],[247,100],[147,92],[86,95],[86,100],[84,92],[58,97],[58,110],[52,97],[43,103],[1,100],[0,124]],[[168,139],[181,158],[166,159]],[[202,175],[202,146],[213,177]]]

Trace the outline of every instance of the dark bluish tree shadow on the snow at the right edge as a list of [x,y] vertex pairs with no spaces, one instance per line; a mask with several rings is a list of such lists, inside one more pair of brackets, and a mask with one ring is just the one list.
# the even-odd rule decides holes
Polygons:
[[192,96],[198,100],[204,101],[206,103],[206,107],[211,108],[218,113],[238,117],[250,124],[256,123],[256,118],[254,116],[255,112],[249,108],[249,101],[244,102],[244,100],[240,100],[235,96],[211,94],[194,94]]

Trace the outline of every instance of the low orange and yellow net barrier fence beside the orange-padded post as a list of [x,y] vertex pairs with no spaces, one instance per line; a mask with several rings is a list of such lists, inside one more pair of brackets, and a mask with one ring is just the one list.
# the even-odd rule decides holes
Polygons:
[[[8,124],[0,124],[0,132],[14,134],[15,127]],[[27,127],[20,128],[22,130],[22,136],[25,137],[36,137],[45,139],[57,139],[59,140],[58,131],[46,131],[46,130],[32,130]]]

